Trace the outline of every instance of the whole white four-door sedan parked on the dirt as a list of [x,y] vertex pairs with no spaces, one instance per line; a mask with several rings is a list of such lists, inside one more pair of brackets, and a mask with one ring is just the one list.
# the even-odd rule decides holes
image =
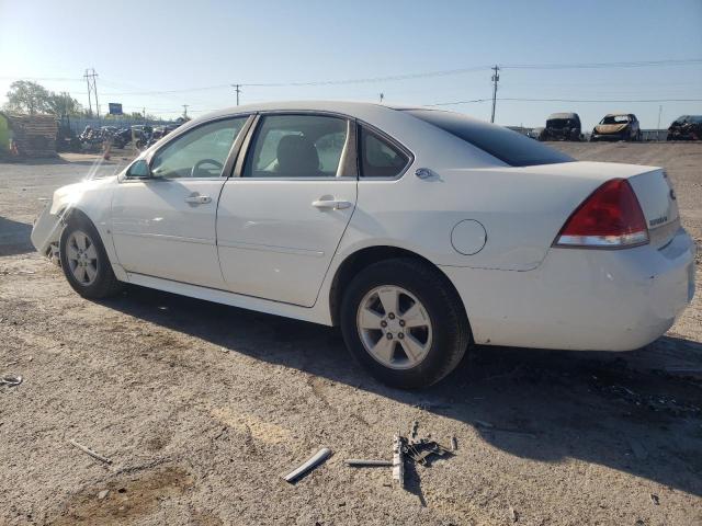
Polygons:
[[364,103],[192,121],[121,174],[57,190],[32,241],[87,298],[131,283],[340,325],[371,374],[405,388],[472,343],[637,348],[694,291],[663,169]]

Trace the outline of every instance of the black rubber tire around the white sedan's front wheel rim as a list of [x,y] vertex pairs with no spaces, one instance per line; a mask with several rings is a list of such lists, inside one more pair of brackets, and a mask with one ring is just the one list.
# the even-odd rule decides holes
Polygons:
[[[73,232],[83,232],[88,236],[90,240],[90,244],[92,244],[97,252],[97,260],[94,265],[92,266],[97,274],[94,275],[94,279],[92,279],[89,284],[80,282],[71,270],[71,263],[68,259],[68,243],[71,235]],[[76,290],[80,296],[88,299],[100,299],[106,298],[110,296],[114,296],[123,288],[122,282],[120,282],[114,272],[112,271],[112,265],[110,264],[110,260],[107,259],[107,253],[105,252],[105,248],[102,244],[102,240],[100,239],[100,235],[95,227],[90,222],[90,220],[82,215],[73,215],[64,231],[61,232],[61,238],[59,241],[59,254],[61,268],[64,271],[64,275],[66,279],[68,279],[69,285]]]

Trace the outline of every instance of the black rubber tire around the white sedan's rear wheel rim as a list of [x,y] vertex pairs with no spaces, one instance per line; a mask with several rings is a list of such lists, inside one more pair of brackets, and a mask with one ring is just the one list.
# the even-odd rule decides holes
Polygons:
[[[429,351],[411,368],[396,369],[382,364],[366,351],[361,340],[356,327],[359,307],[369,293],[382,286],[400,287],[411,293],[424,307],[431,321]],[[400,316],[398,313],[398,318]],[[341,300],[341,331],[351,354],[371,375],[401,389],[422,388],[438,382],[458,365],[471,343],[468,320],[456,291],[438,270],[411,258],[381,261],[353,278]]]

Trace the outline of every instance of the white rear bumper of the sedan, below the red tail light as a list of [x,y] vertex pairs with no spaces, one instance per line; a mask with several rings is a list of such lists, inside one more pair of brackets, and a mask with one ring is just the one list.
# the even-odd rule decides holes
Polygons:
[[663,249],[552,249],[533,271],[442,267],[476,343],[631,351],[663,335],[692,300],[695,245],[680,229]]

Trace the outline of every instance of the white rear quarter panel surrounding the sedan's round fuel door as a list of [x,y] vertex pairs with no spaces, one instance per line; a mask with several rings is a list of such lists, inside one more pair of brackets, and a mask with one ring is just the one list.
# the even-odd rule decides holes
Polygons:
[[[573,210],[602,182],[642,171],[596,162],[451,164],[431,155],[417,156],[397,181],[360,181],[356,210],[338,255],[388,244],[443,266],[530,271],[541,264]],[[417,178],[414,172],[420,167],[437,176]],[[484,248],[473,255],[458,253],[451,242],[453,227],[464,219],[479,221],[487,232]]]

